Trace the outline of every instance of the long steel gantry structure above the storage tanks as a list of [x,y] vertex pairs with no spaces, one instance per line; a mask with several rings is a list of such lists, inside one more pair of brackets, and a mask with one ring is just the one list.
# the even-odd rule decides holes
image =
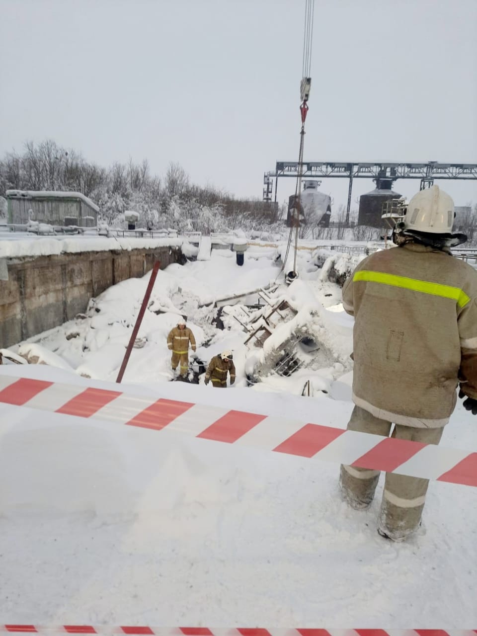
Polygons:
[[[275,196],[277,202],[277,186],[279,177],[298,176],[298,162],[279,161],[275,170],[265,172],[263,177],[263,200],[272,202],[273,179],[275,179]],[[374,179],[379,188],[380,181],[394,182],[396,179],[420,179],[420,190],[429,188],[435,179],[477,180],[477,163],[427,163],[404,162],[303,162],[301,176],[308,179],[344,178],[349,179],[348,204],[346,220],[349,223],[351,193],[353,179]]]

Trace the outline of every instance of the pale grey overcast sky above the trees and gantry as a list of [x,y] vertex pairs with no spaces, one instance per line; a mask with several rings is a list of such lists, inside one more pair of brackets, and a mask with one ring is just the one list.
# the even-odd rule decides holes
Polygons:
[[[298,160],[304,16],[305,0],[0,0],[0,156],[53,139],[261,197]],[[311,75],[305,160],[477,163],[477,0],[315,0]],[[477,203],[476,181],[436,183]],[[321,190],[346,202],[345,179]]]

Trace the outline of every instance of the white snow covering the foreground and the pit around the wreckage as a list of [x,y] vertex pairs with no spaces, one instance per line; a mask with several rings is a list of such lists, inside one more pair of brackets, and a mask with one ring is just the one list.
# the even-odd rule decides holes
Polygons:
[[[247,387],[249,349],[239,322],[227,318],[223,331],[211,324],[212,301],[282,282],[276,255],[251,247],[240,268],[233,252],[212,251],[210,261],[159,272],[139,332],[143,346],[133,350],[121,387],[345,428],[352,319],[339,287],[321,280],[318,254],[300,252],[300,279],[284,293],[297,308],[315,310],[328,356],[319,368]],[[117,389],[111,380],[147,282],[148,276],[124,281],[96,298],[86,317],[18,343],[15,352],[46,364],[10,364],[0,374]],[[201,359],[233,350],[234,387],[167,381],[165,338],[179,314],[188,317]],[[317,390],[301,397],[308,379]],[[477,623],[471,487],[431,483],[422,529],[394,544],[376,532],[382,483],[370,510],[353,511],[340,499],[337,465],[1,403],[0,422],[6,623],[441,629]],[[441,445],[477,448],[476,431],[475,417],[459,401]]]

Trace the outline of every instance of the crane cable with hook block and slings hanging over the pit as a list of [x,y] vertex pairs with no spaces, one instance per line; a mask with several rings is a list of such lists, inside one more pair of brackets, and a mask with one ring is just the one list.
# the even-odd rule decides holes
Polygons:
[[301,65],[301,84],[300,84],[300,114],[301,114],[301,130],[300,130],[300,152],[298,155],[298,172],[296,176],[296,187],[293,204],[293,217],[291,219],[290,233],[288,237],[287,249],[285,258],[283,259],[282,270],[285,267],[289,250],[291,247],[291,240],[293,237],[293,230],[295,230],[294,240],[294,259],[293,259],[293,273],[296,277],[296,255],[298,252],[298,232],[300,230],[300,195],[301,195],[301,179],[303,178],[303,146],[305,142],[305,120],[308,113],[308,95],[311,85],[311,64],[312,64],[312,45],[313,45],[313,18],[315,14],[315,0],[305,0],[305,29],[303,35],[303,62]]

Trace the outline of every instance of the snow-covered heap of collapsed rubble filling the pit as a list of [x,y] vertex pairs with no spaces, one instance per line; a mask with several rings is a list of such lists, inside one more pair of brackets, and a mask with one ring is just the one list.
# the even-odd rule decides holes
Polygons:
[[[179,317],[186,318],[197,340],[197,356],[191,356],[191,370],[196,372],[196,357],[207,364],[221,350],[232,349],[236,384],[254,384],[260,377],[264,386],[256,390],[268,387],[273,391],[275,380],[280,378],[274,371],[277,361],[285,350],[296,348],[297,342],[305,338],[309,346],[300,345],[296,351],[301,370],[296,378],[289,378],[289,391],[298,392],[297,378],[298,384],[310,380],[310,386],[320,387],[323,381],[329,387],[338,380],[350,369],[352,322],[343,322],[342,311],[328,315],[326,307],[339,308],[340,289],[319,280],[320,270],[312,250],[300,252],[301,278],[287,287],[283,272],[274,262],[276,253],[257,248],[247,252],[244,266],[239,267],[232,251],[218,250],[212,252],[211,261],[173,264],[158,272],[125,380],[165,382],[172,378],[167,334]],[[20,343],[17,353],[32,363],[74,370],[86,378],[115,380],[148,280],[149,274],[110,287],[90,301],[85,315]],[[245,345],[250,330],[244,328],[255,314],[246,311],[244,305],[232,305],[218,312],[214,301],[228,295],[237,298],[225,302],[254,303],[261,299],[250,292],[268,287],[271,282],[275,292],[267,293],[267,302],[275,306],[286,303],[289,310],[272,312],[270,317],[270,305],[266,305],[264,312],[256,312],[259,320],[252,329],[263,325],[273,330],[263,349],[256,349],[256,338]],[[217,321],[223,329],[218,328]],[[279,386],[283,382],[284,378],[280,378]]]

